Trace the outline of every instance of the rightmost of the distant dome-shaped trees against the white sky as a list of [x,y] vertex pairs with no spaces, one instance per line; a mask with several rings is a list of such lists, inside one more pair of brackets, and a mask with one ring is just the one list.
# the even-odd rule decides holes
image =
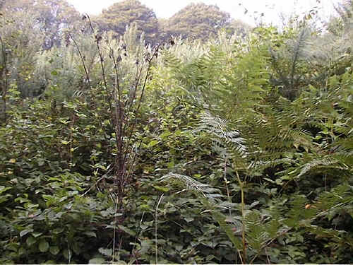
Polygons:
[[207,40],[229,25],[229,22],[229,13],[220,11],[217,6],[189,4],[167,20],[164,32],[168,35]]

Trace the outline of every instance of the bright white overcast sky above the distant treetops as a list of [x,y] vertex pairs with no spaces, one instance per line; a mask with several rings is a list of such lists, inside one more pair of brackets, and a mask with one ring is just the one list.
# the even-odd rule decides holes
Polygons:
[[[99,14],[102,8],[107,8],[120,0],[68,0],[80,13]],[[290,13],[303,13],[318,6],[323,17],[328,18],[334,12],[333,5],[344,0],[140,0],[142,4],[152,8],[157,18],[169,18],[188,4],[203,2],[217,5],[222,11],[227,11],[232,18],[243,20],[254,25],[254,17],[264,13],[267,23],[279,23],[279,14],[289,16]],[[320,3],[318,3],[320,2]],[[239,4],[241,4],[239,6]],[[245,8],[248,10],[246,14]]]

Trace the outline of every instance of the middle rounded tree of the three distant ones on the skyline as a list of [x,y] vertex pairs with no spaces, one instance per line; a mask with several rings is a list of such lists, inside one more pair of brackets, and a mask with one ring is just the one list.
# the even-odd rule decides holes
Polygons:
[[158,21],[155,12],[138,0],[126,0],[109,6],[97,16],[95,21],[100,30],[112,30],[119,35],[124,35],[126,27],[136,23],[138,35],[145,33],[145,40],[155,42],[158,33]]

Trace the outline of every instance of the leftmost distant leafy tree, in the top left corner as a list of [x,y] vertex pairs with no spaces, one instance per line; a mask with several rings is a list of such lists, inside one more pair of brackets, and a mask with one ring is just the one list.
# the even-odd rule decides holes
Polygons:
[[[4,0],[1,11],[32,13],[35,16],[35,24],[46,35],[43,42],[44,49],[59,45],[62,31],[80,18],[78,11],[66,0]],[[36,27],[35,24],[33,28]]]

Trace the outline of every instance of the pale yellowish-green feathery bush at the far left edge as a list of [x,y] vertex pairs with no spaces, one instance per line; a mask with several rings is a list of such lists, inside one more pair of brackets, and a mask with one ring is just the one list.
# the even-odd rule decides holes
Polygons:
[[[0,68],[6,71],[6,78],[1,81],[1,89],[4,93],[6,86],[15,86],[23,97],[37,95],[40,86],[35,86],[39,78],[34,77],[34,71],[37,53],[45,39],[44,32],[40,29],[42,24],[37,23],[36,15],[32,11],[6,13],[1,22],[0,46],[3,52]],[[38,27],[33,27],[36,23]]]

